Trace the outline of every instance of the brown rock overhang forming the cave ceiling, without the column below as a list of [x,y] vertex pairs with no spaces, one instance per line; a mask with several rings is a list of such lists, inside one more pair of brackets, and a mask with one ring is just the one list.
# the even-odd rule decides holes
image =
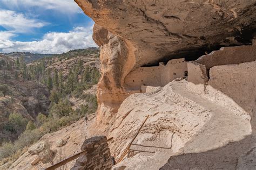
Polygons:
[[96,24],[133,44],[134,67],[250,44],[256,28],[255,1],[76,2]]

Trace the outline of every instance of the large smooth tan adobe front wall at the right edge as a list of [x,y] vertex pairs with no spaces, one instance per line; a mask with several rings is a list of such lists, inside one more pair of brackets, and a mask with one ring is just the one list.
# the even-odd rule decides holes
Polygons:
[[[208,86],[232,98],[252,115],[256,100],[256,61],[238,65],[214,66],[210,69]],[[208,90],[211,93],[211,90]],[[254,108],[255,109],[255,108]]]

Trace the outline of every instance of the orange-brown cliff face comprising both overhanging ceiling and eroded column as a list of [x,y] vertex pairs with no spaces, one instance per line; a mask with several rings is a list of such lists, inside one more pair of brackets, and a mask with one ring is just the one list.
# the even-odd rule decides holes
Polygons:
[[[220,46],[250,44],[255,1],[75,0],[95,21],[102,77],[98,121],[112,124],[111,113],[134,93],[125,77],[140,66],[173,58],[195,60]],[[147,84],[150,86],[150,84]]]

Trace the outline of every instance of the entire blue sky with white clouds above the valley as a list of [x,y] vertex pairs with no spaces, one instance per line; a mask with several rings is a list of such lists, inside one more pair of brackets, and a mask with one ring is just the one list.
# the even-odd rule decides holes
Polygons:
[[97,47],[73,0],[0,0],[0,52],[56,54]]

